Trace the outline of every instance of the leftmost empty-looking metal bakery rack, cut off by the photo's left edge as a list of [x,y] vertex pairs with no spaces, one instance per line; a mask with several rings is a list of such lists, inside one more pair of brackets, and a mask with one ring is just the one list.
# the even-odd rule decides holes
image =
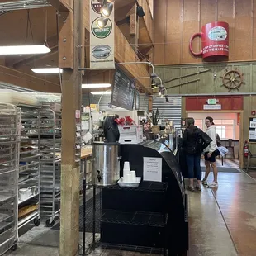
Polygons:
[[20,126],[20,108],[0,103],[0,255],[17,249]]

